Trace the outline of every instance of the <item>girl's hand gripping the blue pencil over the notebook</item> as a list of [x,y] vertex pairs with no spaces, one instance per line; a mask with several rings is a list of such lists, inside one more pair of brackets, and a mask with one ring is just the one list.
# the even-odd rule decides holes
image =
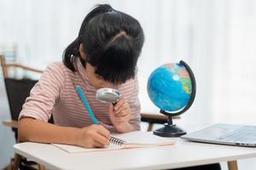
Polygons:
[[81,128],[77,145],[84,148],[103,148],[109,145],[110,133],[102,125]]

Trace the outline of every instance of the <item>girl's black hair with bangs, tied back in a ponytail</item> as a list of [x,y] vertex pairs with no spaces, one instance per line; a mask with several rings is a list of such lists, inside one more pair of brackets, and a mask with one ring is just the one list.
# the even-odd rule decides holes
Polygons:
[[[108,4],[99,4],[86,15],[77,37],[63,53],[63,63],[76,71],[73,59],[79,57],[85,67],[94,66],[96,75],[107,82],[125,82],[134,78],[137,59],[144,42],[139,22]],[[79,54],[83,44],[86,59]]]

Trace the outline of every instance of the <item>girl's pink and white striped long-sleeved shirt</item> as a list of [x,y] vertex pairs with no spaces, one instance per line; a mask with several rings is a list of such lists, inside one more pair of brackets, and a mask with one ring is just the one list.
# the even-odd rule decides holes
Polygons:
[[[96,119],[110,131],[114,131],[108,116],[108,104],[97,101],[96,88],[90,85],[84,66],[74,59],[77,71],[70,71],[62,62],[49,65],[38,83],[26,98],[20,117],[29,116],[47,122],[51,114],[55,124],[65,127],[86,127],[93,122],[86,107],[79,98],[74,85],[79,85],[94,112]],[[137,78],[117,86],[121,96],[131,107],[131,124],[140,129],[140,102],[137,98]]]

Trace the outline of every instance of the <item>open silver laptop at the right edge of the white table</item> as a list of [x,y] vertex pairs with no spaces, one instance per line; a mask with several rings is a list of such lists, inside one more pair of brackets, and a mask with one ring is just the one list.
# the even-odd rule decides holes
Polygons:
[[218,123],[181,138],[210,144],[256,147],[256,126]]

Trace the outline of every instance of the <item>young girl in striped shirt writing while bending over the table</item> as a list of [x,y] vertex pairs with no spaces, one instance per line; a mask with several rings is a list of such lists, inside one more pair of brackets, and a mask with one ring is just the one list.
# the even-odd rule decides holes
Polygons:
[[[104,147],[109,132],[139,130],[136,74],[143,42],[143,29],[130,15],[107,4],[91,10],[63,62],[49,65],[26,99],[19,117],[20,141]],[[93,125],[77,86],[100,125]],[[98,88],[116,88],[122,97],[114,106],[102,103],[95,98]],[[51,115],[55,124],[48,123]]]

